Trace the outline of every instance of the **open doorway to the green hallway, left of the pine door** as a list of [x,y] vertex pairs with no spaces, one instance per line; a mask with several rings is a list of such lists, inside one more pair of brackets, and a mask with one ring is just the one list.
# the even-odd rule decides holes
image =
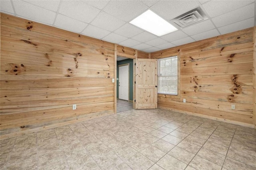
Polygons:
[[117,112],[132,109],[133,101],[133,59],[117,56],[116,97]]

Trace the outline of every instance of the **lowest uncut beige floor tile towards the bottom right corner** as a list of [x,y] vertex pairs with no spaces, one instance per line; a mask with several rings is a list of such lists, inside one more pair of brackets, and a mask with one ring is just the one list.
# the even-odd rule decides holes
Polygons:
[[218,154],[217,152],[214,152],[212,150],[206,149],[202,147],[199,152],[196,154],[197,156],[200,156],[206,160],[209,160],[215,164],[218,164],[220,166],[223,165],[225,156],[222,154]]

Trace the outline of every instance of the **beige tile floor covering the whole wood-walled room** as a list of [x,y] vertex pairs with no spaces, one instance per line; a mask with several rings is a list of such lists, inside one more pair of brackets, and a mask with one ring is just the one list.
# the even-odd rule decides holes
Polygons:
[[256,170],[254,129],[164,109],[0,140],[0,149],[2,170]]

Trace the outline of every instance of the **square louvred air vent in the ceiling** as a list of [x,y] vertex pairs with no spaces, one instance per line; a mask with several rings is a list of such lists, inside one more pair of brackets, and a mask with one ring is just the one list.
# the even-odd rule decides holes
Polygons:
[[185,14],[173,18],[172,20],[170,20],[170,22],[180,26],[180,28],[185,28],[187,26],[191,26],[193,24],[196,24],[207,19],[208,17],[202,11],[202,9],[200,7],[197,7],[193,10],[186,12]]

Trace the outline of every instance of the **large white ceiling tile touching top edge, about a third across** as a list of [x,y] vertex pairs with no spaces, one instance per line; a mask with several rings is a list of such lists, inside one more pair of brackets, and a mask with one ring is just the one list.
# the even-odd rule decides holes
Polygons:
[[84,1],[65,0],[60,4],[59,13],[82,22],[90,23],[100,13],[100,10],[86,4]]

